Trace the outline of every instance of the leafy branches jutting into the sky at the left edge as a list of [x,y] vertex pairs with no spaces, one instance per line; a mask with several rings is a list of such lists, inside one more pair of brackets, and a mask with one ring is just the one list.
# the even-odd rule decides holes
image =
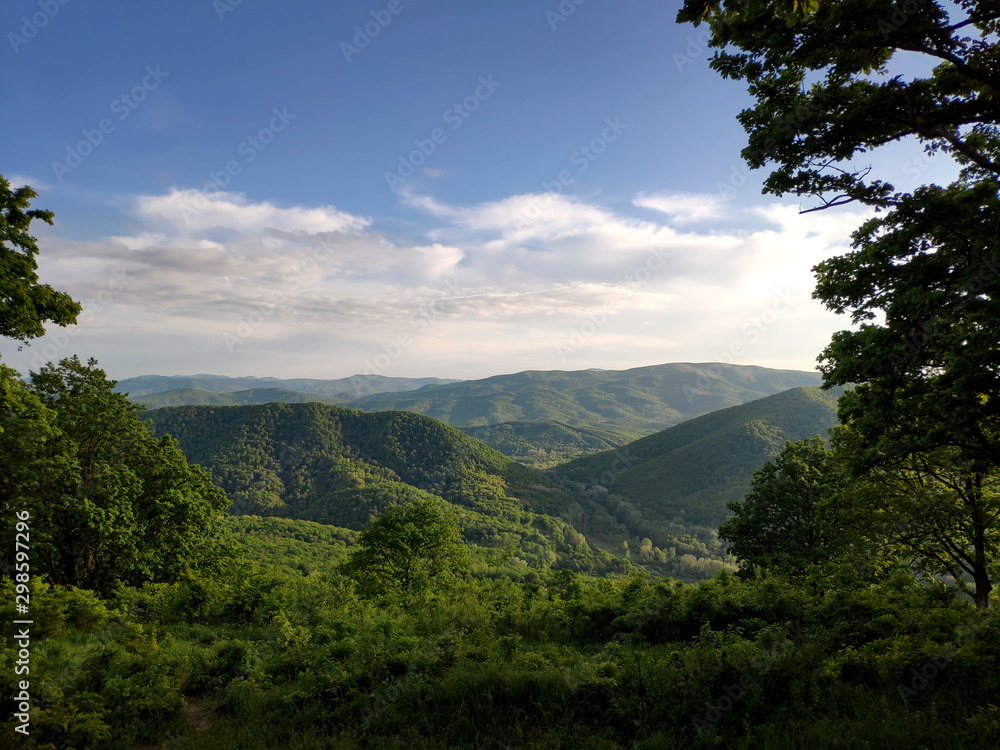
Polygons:
[[0,336],[21,342],[45,334],[47,322],[76,322],[80,305],[68,294],[38,283],[38,245],[29,232],[33,219],[52,224],[53,213],[29,209],[38,194],[30,187],[10,189],[0,175]]

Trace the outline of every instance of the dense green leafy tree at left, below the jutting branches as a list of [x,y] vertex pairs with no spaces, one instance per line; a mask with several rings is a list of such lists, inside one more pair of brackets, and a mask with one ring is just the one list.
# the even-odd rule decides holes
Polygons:
[[107,594],[174,580],[218,554],[228,501],[96,365],[64,359],[30,384],[5,371],[0,455],[11,469],[0,508],[7,532],[15,510],[30,513],[34,575]]

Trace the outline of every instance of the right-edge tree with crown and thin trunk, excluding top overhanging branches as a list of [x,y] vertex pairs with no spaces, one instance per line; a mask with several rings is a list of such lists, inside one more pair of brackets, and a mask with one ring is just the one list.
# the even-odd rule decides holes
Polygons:
[[820,356],[825,383],[858,384],[838,404],[859,436],[856,470],[892,488],[881,496],[912,522],[894,536],[927,569],[968,575],[986,607],[1000,524],[997,186],[920,188],[854,247],[817,266],[814,296],[859,326]]

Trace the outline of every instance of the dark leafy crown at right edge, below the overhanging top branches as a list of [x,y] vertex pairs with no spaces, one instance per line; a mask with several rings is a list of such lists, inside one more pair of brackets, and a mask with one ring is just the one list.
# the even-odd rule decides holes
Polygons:
[[950,446],[970,466],[1000,465],[996,184],[922,188],[854,247],[817,267],[815,296],[860,324],[821,356],[826,382],[858,384],[841,420],[870,452]]

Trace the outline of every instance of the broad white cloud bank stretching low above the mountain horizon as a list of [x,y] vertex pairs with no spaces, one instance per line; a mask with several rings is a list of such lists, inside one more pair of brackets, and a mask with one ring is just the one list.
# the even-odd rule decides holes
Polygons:
[[[862,214],[772,205],[733,214],[742,228],[681,231],[715,210],[681,198],[657,209],[673,219],[660,223],[568,195],[450,205],[405,192],[426,219],[404,239],[332,206],[140,196],[130,234],[47,241],[43,278],[87,313],[72,337],[4,358],[27,369],[39,352],[78,345],[118,377],[340,377],[376,356],[389,360],[384,374],[442,377],[723,356],[811,368],[842,321],[810,300],[810,268],[847,248]],[[798,301],[775,317],[782,295]],[[765,314],[775,319],[755,329]]]

